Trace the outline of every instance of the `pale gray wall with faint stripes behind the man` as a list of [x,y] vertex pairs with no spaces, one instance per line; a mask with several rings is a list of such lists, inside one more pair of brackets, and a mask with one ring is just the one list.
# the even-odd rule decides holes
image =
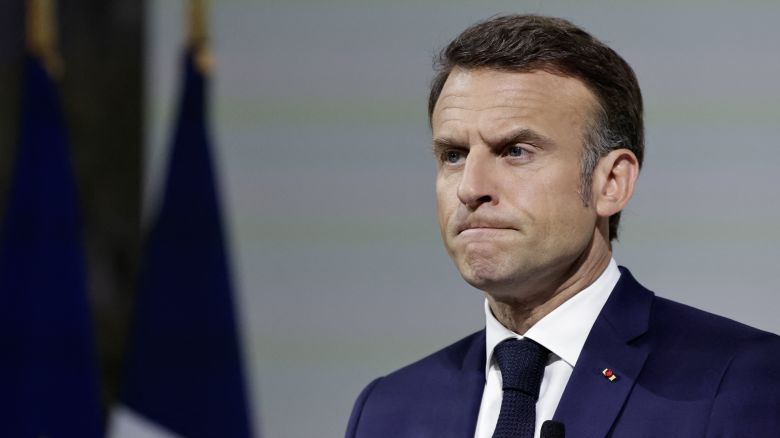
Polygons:
[[[147,5],[147,213],[182,8]],[[214,140],[263,436],[340,436],[372,378],[483,326],[439,241],[425,104],[435,51],[502,12],[569,18],[639,76],[647,157],[618,263],[780,332],[780,3],[214,1]]]

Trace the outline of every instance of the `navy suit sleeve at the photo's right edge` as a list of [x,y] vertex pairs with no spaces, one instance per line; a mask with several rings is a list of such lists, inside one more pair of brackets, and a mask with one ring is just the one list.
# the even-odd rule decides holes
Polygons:
[[780,337],[748,343],[723,374],[708,438],[780,437]]

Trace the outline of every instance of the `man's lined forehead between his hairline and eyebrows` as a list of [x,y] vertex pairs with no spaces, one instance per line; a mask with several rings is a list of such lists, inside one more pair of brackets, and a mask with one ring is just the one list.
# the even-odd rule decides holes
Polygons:
[[456,68],[444,83],[431,124],[434,136],[489,137],[520,127],[579,143],[595,106],[591,91],[576,78]]

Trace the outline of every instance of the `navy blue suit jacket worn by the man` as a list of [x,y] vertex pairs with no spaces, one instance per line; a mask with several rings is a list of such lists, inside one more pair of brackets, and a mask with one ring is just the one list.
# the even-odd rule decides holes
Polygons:
[[[780,337],[621,271],[555,411],[566,436],[780,437]],[[369,384],[346,436],[472,438],[484,385],[482,330]]]

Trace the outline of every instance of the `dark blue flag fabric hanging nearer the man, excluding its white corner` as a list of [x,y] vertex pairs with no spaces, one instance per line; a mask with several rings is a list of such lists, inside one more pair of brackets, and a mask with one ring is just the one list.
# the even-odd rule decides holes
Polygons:
[[164,196],[144,251],[122,402],[184,437],[249,437],[207,83],[192,53],[183,85]]

